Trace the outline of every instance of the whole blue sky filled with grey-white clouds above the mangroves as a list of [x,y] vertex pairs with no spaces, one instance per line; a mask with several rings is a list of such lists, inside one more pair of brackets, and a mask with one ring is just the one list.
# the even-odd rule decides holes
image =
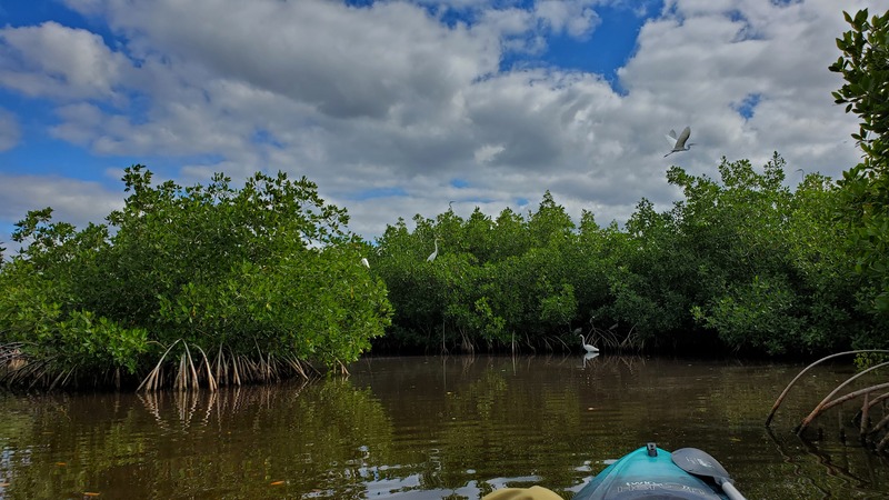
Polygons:
[[104,222],[136,163],[306,176],[368,241],[547,190],[623,223],[723,156],[837,179],[861,153],[828,66],[861,8],[889,0],[3,0],[0,246],[29,210]]

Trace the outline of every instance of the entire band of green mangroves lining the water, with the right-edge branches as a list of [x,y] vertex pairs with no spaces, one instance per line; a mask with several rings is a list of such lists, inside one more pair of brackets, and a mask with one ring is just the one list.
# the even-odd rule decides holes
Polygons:
[[[452,209],[371,243],[304,177],[152,184],[78,230],[33,210],[0,259],[0,382],[153,391],[312,378],[386,353],[603,351],[811,359],[889,342],[889,13],[846,14],[829,68],[862,162],[791,189],[775,152],[719,178],[667,172],[625,227]],[[801,167],[801,168],[800,168]],[[433,252],[430,254],[430,252]],[[1,256],[0,256],[1,257]],[[859,358],[861,364],[880,362]]]

